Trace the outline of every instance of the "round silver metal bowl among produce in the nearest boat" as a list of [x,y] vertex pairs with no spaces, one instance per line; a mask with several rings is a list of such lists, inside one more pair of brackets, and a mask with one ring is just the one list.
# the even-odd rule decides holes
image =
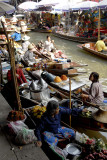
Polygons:
[[66,146],[66,151],[68,154],[72,155],[72,156],[76,156],[76,155],[80,155],[82,152],[82,148],[80,145],[76,144],[76,143],[69,143]]

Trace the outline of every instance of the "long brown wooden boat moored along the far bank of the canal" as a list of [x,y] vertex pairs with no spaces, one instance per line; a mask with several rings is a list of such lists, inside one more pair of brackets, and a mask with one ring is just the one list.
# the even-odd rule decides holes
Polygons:
[[59,37],[59,38],[65,39],[65,40],[74,41],[74,42],[79,42],[79,43],[96,42],[97,41],[96,37],[86,38],[86,37],[70,36],[70,35],[56,33],[56,32],[52,32],[52,34],[56,37]]

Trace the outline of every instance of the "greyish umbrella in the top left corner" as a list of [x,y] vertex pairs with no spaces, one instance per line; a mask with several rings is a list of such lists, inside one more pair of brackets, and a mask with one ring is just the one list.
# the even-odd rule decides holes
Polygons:
[[4,3],[4,2],[0,2],[0,14],[12,14],[15,11],[15,7]]

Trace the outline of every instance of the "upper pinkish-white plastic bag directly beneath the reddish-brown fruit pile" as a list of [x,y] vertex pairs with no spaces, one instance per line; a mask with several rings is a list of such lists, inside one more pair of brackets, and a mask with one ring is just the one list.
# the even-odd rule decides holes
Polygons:
[[15,121],[15,122],[12,121],[8,124],[8,126],[12,128],[15,134],[17,134],[20,130],[22,130],[22,128],[28,128],[27,125],[22,121]]

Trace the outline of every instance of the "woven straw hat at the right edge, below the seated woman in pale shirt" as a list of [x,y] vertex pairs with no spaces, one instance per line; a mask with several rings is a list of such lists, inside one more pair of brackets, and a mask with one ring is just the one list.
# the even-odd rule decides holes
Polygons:
[[101,123],[107,123],[107,106],[100,106],[99,110],[92,114],[92,117]]

